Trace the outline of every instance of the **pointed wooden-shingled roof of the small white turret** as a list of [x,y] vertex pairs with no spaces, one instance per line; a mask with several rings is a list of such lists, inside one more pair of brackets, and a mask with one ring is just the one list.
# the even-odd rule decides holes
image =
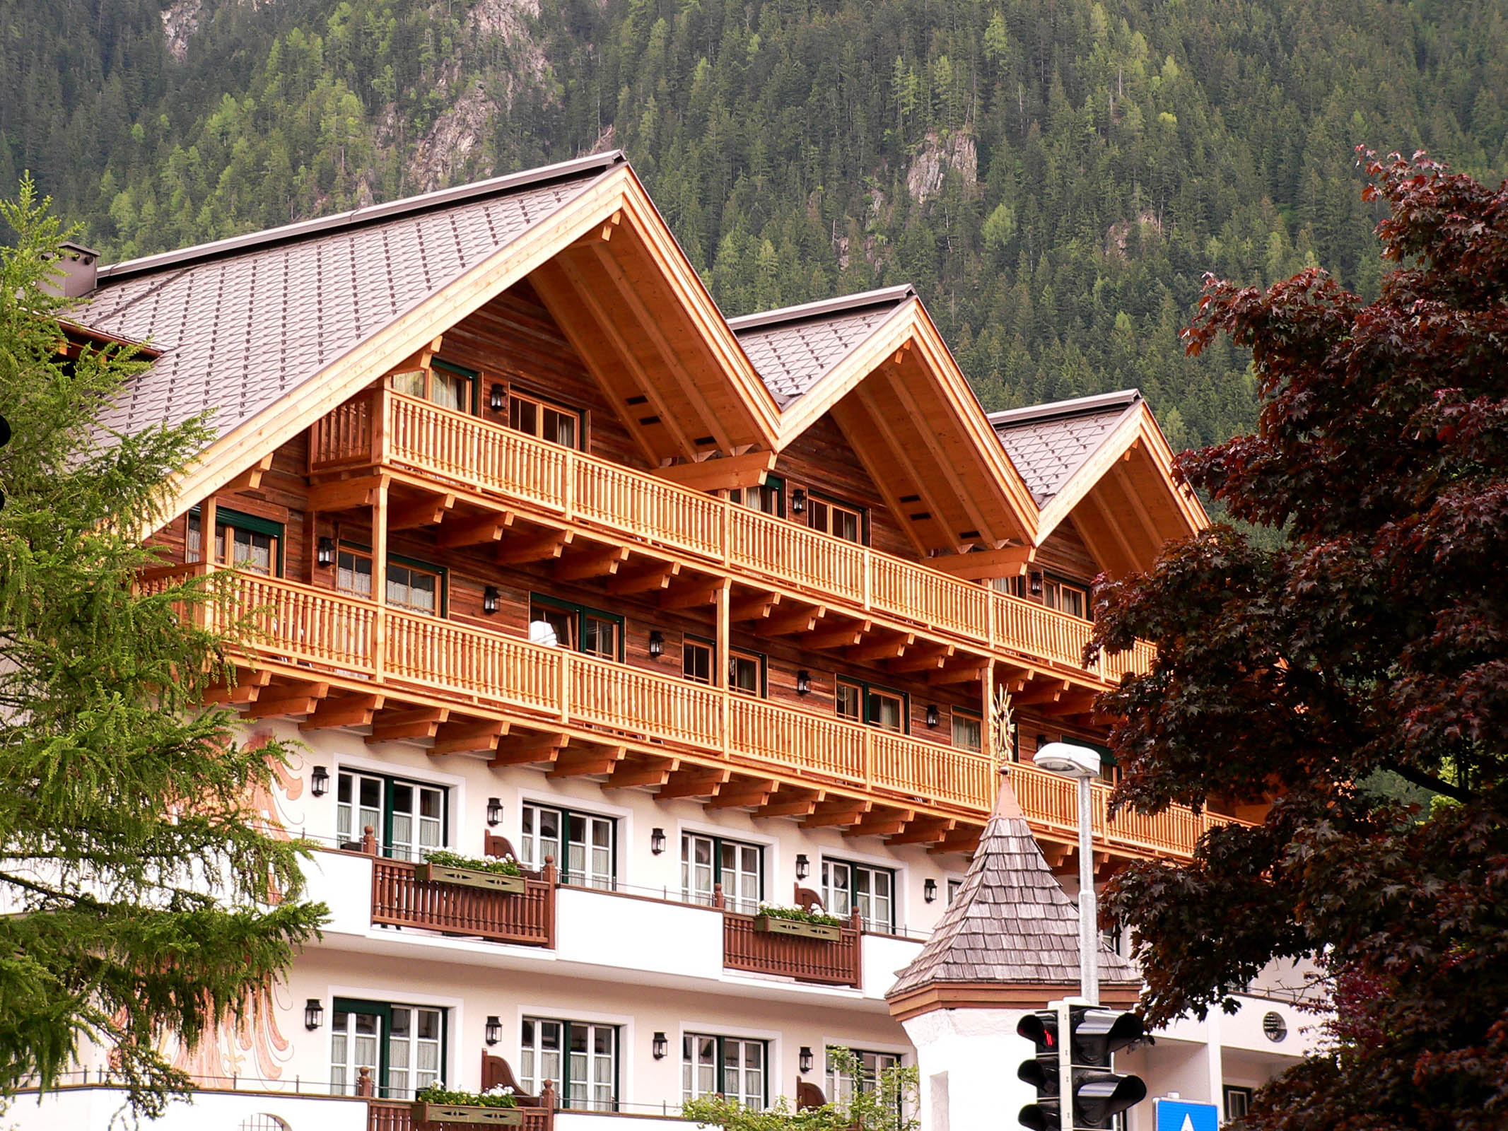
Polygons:
[[[1099,983],[1107,998],[1123,1001],[1136,997],[1142,976],[1101,946]],[[896,1012],[897,1003],[947,986],[964,991],[932,995],[947,1007],[1012,1000],[992,988],[1019,991],[1021,1003],[1078,992],[1078,908],[1042,858],[1006,772],[964,885],[885,1000]]]

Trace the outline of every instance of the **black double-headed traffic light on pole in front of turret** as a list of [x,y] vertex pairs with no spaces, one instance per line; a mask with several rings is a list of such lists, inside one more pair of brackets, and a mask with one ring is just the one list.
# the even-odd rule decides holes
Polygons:
[[1110,1071],[1111,1054],[1142,1039],[1134,1013],[1054,1001],[1021,1018],[1016,1033],[1036,1045],[1036,1056],[1016,1069],[1038,1093],[1016,1116],[1030,1131],[1108,1128],[1114,1116],[1146,1098],[1140,1077]]

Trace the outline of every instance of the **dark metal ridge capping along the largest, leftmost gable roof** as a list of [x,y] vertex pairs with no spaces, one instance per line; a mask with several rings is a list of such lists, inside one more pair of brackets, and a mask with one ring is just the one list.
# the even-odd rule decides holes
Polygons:
[[101,267],[98,280],[100,287],[106,287],[112,282],[151,274],[152,271],[160,271],[167,267],[202,262],[252,249],[273,247],[282,243],[293,243],[336,229],[363,228],[369,223],[392,220],[400,216],[427,213],[452,204],[460,204],[463,201],[475,201],[486,196],[502,196],[505,193],[517,192],[519,188],[535,188],[553,181],[566,181],[573,176],[582,176],[594,170],[606,172],[608,169],[624,164],[626,161],[627,157],[624,157],[621,149],[609,149],[602,154],[575,157],[569,161],[556,161],[555,164],[546,164],[537,169],[505,173],[486,181],[474,181],[470,184],[454,185],[449,188],[436,188],[434,192],[419,193],[418,196],[406,196],[386,204],[363,205],[360,208],[351,208],[350,211],[333,213],[332,216],[317,216],[309,220],[287,223],[279,228],[264,228],[256,232],[232,235],[225,240],[179,247],[172,252],[158,252],[157,255],[145,255],[137,259],[125,259],[118,264],[110,264],[109,267]]

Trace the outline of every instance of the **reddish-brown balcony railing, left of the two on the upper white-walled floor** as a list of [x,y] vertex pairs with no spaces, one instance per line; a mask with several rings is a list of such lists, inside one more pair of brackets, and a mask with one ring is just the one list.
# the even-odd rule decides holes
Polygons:
[[443,930],[449,935],[555,946],[553,870],[526,879],[522,894],[422,881],[416,864],[377,860],[372,866],[372,923]]

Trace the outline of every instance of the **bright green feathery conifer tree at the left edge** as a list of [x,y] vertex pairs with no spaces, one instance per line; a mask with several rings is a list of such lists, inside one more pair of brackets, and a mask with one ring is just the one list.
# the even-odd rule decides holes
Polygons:
[[81,1042],[112,1045],[136,1111],[187,1087],[160,1047],[195,1045],[312,938],[303,847],[261,831],[277,743],[232,742],[195,706],[229,674],[223,641],[179,611],[202,581],[137,588],[139,538],[201,422],[136,436],[93,418],[131,350],[57,351],[66,306],[41,288],[59,231],[30,181],[0,204],[0,1095],[53,1086]]

